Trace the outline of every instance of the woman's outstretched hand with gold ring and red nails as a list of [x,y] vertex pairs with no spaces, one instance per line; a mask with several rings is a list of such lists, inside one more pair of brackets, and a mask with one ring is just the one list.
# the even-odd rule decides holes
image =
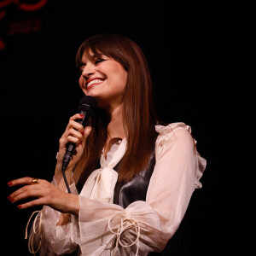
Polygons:
[[9,201],[15,203],[20,200],[33,198],[32,201],[20,204],[20,209],[46,205],[59,212],[79,214],[79,196],[68,194],[44,179],[38,179],[37,183],[32,183],[32,177],[21,177],[8,183],[10,187],[23,185],[8,196]]

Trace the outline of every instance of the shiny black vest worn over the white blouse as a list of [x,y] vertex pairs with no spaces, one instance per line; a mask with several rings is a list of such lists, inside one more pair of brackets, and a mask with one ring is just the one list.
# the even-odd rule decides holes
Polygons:
[[[114,188],[113,203],[123,208],[128,207],[134,201],[146,201],[148,184],[150,177],[154,171],[155,154],[151,154],[148,168],[142,170],[128,182],[117,182]],[[119,172],[119,164],[113,168]],[[172,198],[166,200],[172,200]],[[161,256],[185,256],[185,230],[184,219],[179,225],[179,228],[168,241],[165,250],[162,253],[149,253],[148,255],[161,255]]]

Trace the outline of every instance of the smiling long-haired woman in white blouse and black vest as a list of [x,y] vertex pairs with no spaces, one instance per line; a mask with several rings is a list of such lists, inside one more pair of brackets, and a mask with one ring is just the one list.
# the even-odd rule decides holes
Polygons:
[[[194,189],[201,188],[206,160],[188,125],[157,125],[148,65],[137,44],[97,35],[80,46],[77,65],[81,89],[96,99],[96,117],[85,128],[76,122],[79,113],[70,118],[52,183],[11,181],[9,186],[24,186],[9,200],[33,198],[20,209],[44,205],[30,241],[41,255],[159,253],[177,233]],[[70,142],[77,146],[66,171],[72,194],[61,174]]]

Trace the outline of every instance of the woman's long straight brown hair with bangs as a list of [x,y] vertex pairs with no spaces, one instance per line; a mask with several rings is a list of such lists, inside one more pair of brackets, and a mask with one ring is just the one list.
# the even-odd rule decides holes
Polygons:
[[[81,66],[84,54],[107,55],[118,61],[127,72],[127,84],[123,97],[123,120],[127,150],[119,165],[119,181],[128,181],[143,168],[154,150],[155,114],[152,105],[152,82],[148,63],[142,49],[131,41],[115,34],[100,34],[84,41],[79,47],[76,61]],[[87,138],[84,154],[76,167],[80,185],[95,170],[102,148],[108,137],[108,119],[99,109],[92,131]]]

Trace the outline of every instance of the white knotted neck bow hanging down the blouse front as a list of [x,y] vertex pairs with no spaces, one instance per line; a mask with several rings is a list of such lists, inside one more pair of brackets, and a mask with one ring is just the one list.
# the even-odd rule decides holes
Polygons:
[[123,139],[119,144],[119,148],[113,152],[113,156],[109,161],[102,154],[100,160],[101,168],[90,174],[90,177],[84,184],[86,191],[84,189],[81,195],[92,200],[113,203],[114,186],[118,179],[118,172],[115,172],[113,167],[123,158],[126,144],[126,139]]

